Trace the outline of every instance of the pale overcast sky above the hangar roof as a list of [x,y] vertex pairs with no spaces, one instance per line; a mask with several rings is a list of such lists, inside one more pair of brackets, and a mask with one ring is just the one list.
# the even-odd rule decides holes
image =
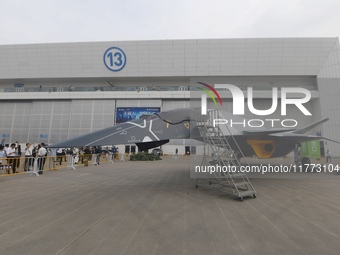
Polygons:
[[338,0],[2,0],[0,44],[339,37]]

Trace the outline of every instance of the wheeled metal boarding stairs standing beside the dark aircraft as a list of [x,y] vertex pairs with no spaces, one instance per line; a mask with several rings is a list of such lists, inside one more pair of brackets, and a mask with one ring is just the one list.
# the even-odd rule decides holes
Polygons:
[[[237,196],[240,201],[244,197],[256,197],[256,191],[244,171],[241,171],[241,157],[244,157],[233,134],[227,125],[223,125],[223,133],[220,125],[213,125],[214,119],[221,119],[218,110],[210,110],[209,118],[197,121],[197,128],[204,142],[204,154],[201,166],[215,167],[215,170],[207,179],[197,178],[198,186],[211,186],[219,189],[221,193],[229,193]],[[230,146],[230,142],[238,147],[238,155]],[[203,182],[202,182],[203,180]]]

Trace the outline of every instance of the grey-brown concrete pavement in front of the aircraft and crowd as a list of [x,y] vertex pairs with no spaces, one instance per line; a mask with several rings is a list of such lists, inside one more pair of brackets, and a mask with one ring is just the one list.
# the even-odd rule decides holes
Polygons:
[[338,254],[340,176],[252,180],[238,202],[189,160],[0,178],[0,254]]

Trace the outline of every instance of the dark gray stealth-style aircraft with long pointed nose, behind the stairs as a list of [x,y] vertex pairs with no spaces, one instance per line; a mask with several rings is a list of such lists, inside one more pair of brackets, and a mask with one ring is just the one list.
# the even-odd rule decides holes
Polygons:
[[[226,119],[232,116],[226,112],[223,114],[224,117],[227,115]],[[211,116],[202,116],[194,109],[176,109],[144,115],[140,119],[91,132],[65,142],[53,144],[50,147],[69,148],[136,144],[140,151],[144,151],[163,145],[170,139],[191,138],[203,141],[197,124],[209,121],[209,118]],[[301,142],[319,139],[333,141],[324,137],[305,134],[327,120],[320,120],[301,129],[236,128],[230,125],[221,125],[220,128],[225,136],[233,135],[234,139],[229,141],[236,154],[241,150],[244,156],[256,155],[258,158],[274,158],[287,155],[294,150],[296,144]]]

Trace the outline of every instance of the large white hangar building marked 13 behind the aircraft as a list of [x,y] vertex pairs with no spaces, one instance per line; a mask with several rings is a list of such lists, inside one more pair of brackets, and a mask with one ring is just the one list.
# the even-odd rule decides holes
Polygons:
[[[339,62],[338,38],[0,45],[0,135],[6,143],[63,141],[115,124],[117,110],[197,105],[191,91],[204,82],[253,87],[258,109],[270,108],[273,87],[305,88],[312,116],[292,105],[287,116],[278,107],[271,117],[296,119],[298,127],[329,117],[311,134],[340,141]],[[232,111],[231,94],[220,95]],[[163,150],[194,146],[173,140]],[[340,156],[339,144],[324,146]]]

